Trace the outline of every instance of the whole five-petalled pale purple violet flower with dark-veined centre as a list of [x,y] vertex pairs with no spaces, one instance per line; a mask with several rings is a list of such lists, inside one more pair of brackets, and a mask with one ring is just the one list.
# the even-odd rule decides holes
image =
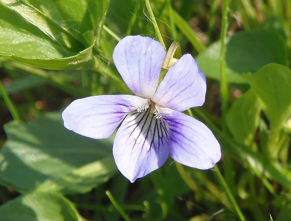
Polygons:
[[190,54],[168,70],[157,87],[166,50],[157,41],[123,38],[113,61],[134,95],[100,95],[73,101],[62,114],[67,129],[113,143],[118,170],[131,182],[161,167],[171,157],[184,165],[209,169],[221,157],[220,145],[203,123],[181,113],[205,101],[205,75]]

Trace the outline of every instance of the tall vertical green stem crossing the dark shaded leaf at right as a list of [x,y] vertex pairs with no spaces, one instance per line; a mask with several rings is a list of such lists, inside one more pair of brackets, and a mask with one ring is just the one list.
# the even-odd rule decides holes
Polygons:
[[221,114],[222,114],[222,129],[226,130],[226,113],[228,110],[228,83],[226,75],[226,32],[227,32],[227,10],[228,10],[228,0],[223,1],[223,13],[222,13],[222,24],[221,24],[221,54],[220,54],[220,72],[221,72],[221,81],[220,81],[220,95],[221,95]]

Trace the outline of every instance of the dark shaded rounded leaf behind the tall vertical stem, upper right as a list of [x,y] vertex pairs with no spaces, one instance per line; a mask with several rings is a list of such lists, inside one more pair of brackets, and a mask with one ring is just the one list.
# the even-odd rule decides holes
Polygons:
[[[196,57],[209,78],[220,80],[220,45],[215,42]],[[269,63],[286,65],[285,43],[275,31],[253,30],[235,33],[226,43],[226,72],[229,83],[246,83],[244,73],[255,73]]]

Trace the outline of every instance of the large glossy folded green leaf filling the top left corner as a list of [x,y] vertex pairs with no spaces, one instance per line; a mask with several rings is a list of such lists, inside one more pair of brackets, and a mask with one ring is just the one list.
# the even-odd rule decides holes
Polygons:
[[99,3],[1,0],[0,56],[46,69],[94,67],[95,22],[108,1]]

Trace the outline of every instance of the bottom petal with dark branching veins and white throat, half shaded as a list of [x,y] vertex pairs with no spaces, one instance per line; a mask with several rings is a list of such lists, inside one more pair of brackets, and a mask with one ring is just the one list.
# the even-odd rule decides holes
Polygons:
[[113,143],[117,168],[131,182],[161,167],[169,150],[168,128],[162,120],[150,114],[150,108],[130,112]]

